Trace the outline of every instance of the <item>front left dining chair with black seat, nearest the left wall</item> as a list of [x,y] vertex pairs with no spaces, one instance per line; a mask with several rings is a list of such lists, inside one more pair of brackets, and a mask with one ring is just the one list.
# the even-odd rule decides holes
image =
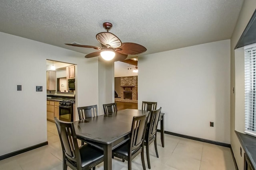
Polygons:
[[60,121],[54,117],[58,129],[63,154],[63,170],[68,166],[73,170],[90,170],[103,162],[102,150],[90,145],[78,147],[73,122]]

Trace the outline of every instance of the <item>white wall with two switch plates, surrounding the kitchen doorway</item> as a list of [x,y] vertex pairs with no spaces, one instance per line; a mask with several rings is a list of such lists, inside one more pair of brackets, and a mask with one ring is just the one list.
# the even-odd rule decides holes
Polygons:
[[47,141],[46,59],[77,64],[76,107],[98,104],[97,58],[2,32],[0,56],[0,155]]

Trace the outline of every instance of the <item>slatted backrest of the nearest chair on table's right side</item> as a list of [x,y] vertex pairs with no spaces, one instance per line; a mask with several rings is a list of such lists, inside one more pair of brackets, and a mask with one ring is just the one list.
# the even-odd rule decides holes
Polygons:
[[143,145],[147,122],[148,114],[133,117],[130,137],[130,154],[132,153],[132,150],[136,150]]

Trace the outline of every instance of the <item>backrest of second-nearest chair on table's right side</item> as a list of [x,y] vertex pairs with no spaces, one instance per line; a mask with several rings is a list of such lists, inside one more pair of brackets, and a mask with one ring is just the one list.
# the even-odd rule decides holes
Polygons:
[[161,113],[162,107],[160,107],[157,110],[152,110],[150,114],[150,119],[149,119],[149,129],[148,129],[148,140],[151,139],[155,134],[156,134],[156,129],[158,125],[158,119]]

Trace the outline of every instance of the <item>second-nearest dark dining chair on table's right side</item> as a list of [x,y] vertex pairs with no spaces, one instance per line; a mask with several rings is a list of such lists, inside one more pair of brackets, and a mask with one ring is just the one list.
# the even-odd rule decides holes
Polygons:
[[148,168],[150,169],[150,159],[149,159],[149,145],[154,142],[155,145],[155,150],[156,150],[156,157],[159,158],[158,156],[158,151],[157,151],[157,144],[156,144],[156,129],[158,125],[158,119],[161,113],[162,107],[160,107],[157,110],[152,110],[150,113],[150,118],[149,118],[149,125],[146,129],[146,135],[145,135],[145,140],[144,140],[144,145],[146,146],[146,155],[147,155],[147,162],[148,162]]

